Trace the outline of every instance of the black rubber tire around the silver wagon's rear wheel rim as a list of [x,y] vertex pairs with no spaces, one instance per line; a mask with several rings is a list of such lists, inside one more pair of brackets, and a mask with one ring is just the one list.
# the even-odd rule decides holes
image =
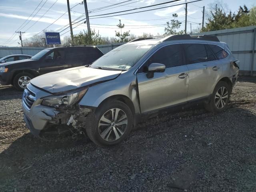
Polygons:
[[[227,97],[227,98],[224,98],[224,99],[225,99],[225,100],[224,100],[225,104],[223,104],[223,103],[221,103],[221,102],[219,103],[219,104],[220,104],[220,107],[222,107],[222,106],[223,106],[223,107],[222,107],[222,108],[218,108],[218,107],[217,107],[217,106],[218,106],[218,98],[215,99],[215,96],[216,96],[216,94],[217,94],[217,91],[218,91],[218,93],[221,91],[220,88],[222,88],[222,87],[226,88],[228,97]],[[224,89],[224,90],[225,90],[225,89]],[[209,112],[216,112],[216,113],[222,112],[222,111],[225,110],[225,109],[227,108],[227,106],[228,106],[230,94],[231,94],[231,87],[230,87],[226,82],[224,82],[224,81],[218,82],[217,85],[216,85],[215,88],[214,88],[214,91],[212,92],[212,96],[211,96],[211,98],[210,98],[210,102],[205,103],[205,104],[204,104],[204,108],[205,108],[207,111],[209,111]],[[226,95],[225,95],[225,96],[226,96]],[[216,106],[216,104],[217,104],[217,106]]]

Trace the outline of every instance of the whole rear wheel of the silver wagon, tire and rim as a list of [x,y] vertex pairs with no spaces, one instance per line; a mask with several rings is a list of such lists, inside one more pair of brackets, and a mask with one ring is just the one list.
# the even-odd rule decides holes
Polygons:
[[204,107],[209,112],[222,112],[228,105],[230,93],[231,88],[226,82],[218,82],[214,88],[210,102],[204,104]]

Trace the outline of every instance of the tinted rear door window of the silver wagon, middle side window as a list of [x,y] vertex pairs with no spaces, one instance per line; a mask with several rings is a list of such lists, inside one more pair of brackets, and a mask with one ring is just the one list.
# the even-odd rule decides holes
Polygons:
[[204,44],[184,44],[188,64],[208,61]]

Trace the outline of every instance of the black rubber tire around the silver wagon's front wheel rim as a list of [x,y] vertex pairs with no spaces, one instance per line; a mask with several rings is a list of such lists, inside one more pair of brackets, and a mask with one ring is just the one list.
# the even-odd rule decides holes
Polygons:
[[[98,125],[100,123],[100,119],[102,118],[102,116],[104,114],[106,114],[107,112],[111,112],[110,111],[111,109],[116,109],[116,108],[120,109],[120,111],[122,113],[124,112],[124,114],[126,114],[127,126],[126,126],[124,133],[120,136],[120,138],[118,138],[117,140],[113,140],[113,141],[106,141],[100,136],[100,128],[102,126],[100,126],[100,128],[99,128]],[[113,145],[116,145],[116,144],[122,142],[129,135],[129,133],[132,129],[133,116],[132,116],[132,112],[131,112],[130,108],[126,104],[124,104],[123,102],[120,102],[118,100],[113,100],[113,101],[107,101],[104,104],[101,104],[96,109],[95,113],[91,113],[88,116],[87,122],[88,122],[88,124],[86,126],[86,133],[87,133],[88,137],[90,138],[90,140],[92,140],[92,142],[94,142],[96,145],[98,145],[100,147],[108,147],[108,146],[113,146]],[[111,125],[106,126],[106,127],[109,128],[110,126]],[[107,130],[107,128],[106,128],[106,130]],[[110,132],[108,132],[110,135],[114,134],[113,127],[111,128]],[[118,133],[120,134],[121,132],[118,132]],[[115,136],[115,135],[113,135],[113,136]]]

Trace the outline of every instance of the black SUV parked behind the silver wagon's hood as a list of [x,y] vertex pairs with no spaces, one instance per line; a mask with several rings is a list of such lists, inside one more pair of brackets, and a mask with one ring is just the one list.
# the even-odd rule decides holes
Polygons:
[[[12,84],[23,90],[36,76],[53,71],[88,65],[103,53],[96,46],[66,46],[48,48],[30,59],[0,64],[0,84]],[[54,82],[54,80],[52,80]]]

